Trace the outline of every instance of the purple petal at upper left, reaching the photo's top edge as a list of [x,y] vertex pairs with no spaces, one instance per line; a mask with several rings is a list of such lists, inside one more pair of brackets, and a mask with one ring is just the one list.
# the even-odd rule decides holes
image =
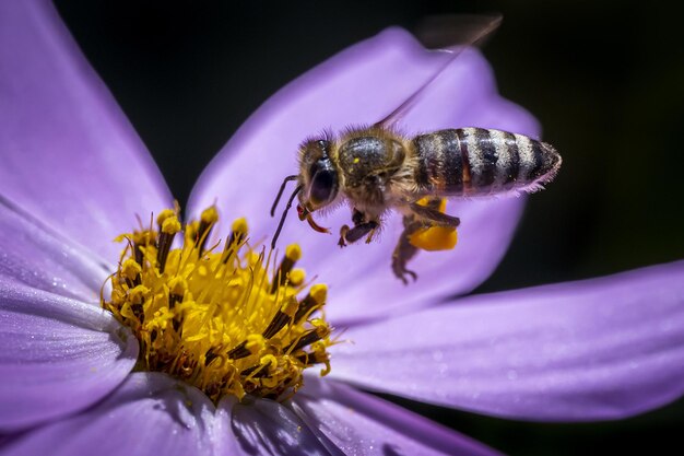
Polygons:
[[0,195],[115,261],[111,241],[172,199],[48,1],[0,4]]

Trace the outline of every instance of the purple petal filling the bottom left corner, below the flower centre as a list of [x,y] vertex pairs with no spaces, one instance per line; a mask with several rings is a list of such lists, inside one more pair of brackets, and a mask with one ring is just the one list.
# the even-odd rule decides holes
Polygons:
[[11,442],[7,455],[211,455],[214,406],[160,373],[135,373],[95,407]]

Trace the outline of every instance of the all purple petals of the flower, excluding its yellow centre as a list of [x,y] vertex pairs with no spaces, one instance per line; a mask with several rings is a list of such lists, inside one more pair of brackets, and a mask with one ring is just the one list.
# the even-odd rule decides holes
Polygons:
[[[297,143],[382,117],[439,59],[390,30],[305,74],[226,144],[189,212],[215,200],[224,215],[248,218],[252,238],[268,238],[268,209],[295,169]],[[476,52],[422,106],[405,119],[411,130],[539,131],[496,94]],[[333,346],[331,374],[308,375],[283,404],[214,406],[165,374],[131,373],[139,343],[99,307],[120,249],[113,238],[172,197],[45,1],[0,3],[0,454],[481,455],[493,452],[349,385],[550,421],[622,418],[684,389],[684,262],[444,302],[481,283],[504,254],[523,200],[500,199],[451,204],[463,221],[459,246],[420,255],[409,288],[388,265],[398,218],[381,242],[345,250],[288,221],[282,241],[302,244],[303,262],[330,287],[329,318],[353,343]]]

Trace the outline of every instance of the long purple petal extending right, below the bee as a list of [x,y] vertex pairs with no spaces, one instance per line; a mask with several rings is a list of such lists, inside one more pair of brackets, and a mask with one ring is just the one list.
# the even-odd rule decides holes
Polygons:
[[684,393],[684,261],[472,296],[353,328],[331,375],[531,420],[616,419]]

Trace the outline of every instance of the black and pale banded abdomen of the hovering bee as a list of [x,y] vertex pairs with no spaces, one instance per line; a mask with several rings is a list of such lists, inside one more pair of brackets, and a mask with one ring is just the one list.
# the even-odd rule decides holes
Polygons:
[[414,140],[422,191],[445,196],[533,190],[561,165],[551,147],[522,135],[484,128],[459,128]]

